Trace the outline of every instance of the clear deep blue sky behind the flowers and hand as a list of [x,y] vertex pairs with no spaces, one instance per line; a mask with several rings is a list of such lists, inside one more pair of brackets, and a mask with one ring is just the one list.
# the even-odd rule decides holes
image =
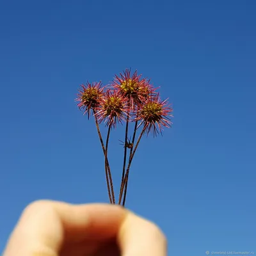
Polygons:
[[[95,125],[74,99],[131,67],[174,118],[141,141],[127,207],[163,229],[169,255],[256,253],[255,12],[236,0],[2,1],[0,252],[33,200],[108,202]],[[123,129],[109,145],[116,192]]]

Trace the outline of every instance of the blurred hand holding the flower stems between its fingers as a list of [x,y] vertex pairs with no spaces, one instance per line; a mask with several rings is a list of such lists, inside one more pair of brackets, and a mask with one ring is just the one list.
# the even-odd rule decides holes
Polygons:
[[24,210],[3,256],[166,256],[156,225],[118,205],[37,201]]

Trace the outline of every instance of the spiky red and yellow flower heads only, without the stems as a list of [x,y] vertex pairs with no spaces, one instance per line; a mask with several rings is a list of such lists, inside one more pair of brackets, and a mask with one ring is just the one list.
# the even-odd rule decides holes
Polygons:
[[82,84],[76,99],[77,107],[90,117],[91,111],[106,126],[116,127],[129,116],[129,122],[140,122],[143,132],[152,132],[154,136],[170,127],[172,108],[167,100],[160,100],[156,88],[147,78],[141,78],[138,72],[131,74],[126,69],[115,76],[109,86],[102,83]]

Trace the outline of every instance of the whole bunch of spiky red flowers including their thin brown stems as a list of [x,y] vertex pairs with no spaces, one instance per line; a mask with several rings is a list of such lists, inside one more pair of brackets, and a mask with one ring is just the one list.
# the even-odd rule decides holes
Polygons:
[[[95,125],[99,135],[102,151],[105,157],[105,173],[108,185],[109,202],[115,204],[115,190],[108,161],[109,135],[112,128],[117,124],[125,122],[124,141],[124,164],[122,168],[122,180],[118,204],[125,205],[129,170],[134,154],[138,148],[140,140],[144,134],[152,132],[153,136],[162,134],[164,127],[171,127],[172,107],[168,104],[168,99],[161,100],[150,79],[142,78],[135,71],[131,74],[131,69],[124,70],[116,75],[108,86],[102,83],[82,84],[77,94],[77,107],[84,112],[84,115],[94,116]],[[104,143],[100,132],[100,123],[108,127],[106,143]],[[132,140],[129,135],[129,124],[134,124]],[[141,127],[141,132],[136,139],[136,132]],[[129,152],[127,152],[129,150]],[[129,154],[129,156],[127,156]],[[128,161],[127,161],[128,159]]]

